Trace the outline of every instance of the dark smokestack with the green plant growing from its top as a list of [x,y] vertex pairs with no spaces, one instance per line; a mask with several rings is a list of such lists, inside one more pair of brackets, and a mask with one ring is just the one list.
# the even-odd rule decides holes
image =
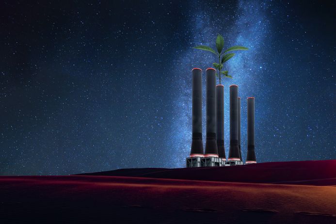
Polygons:
[[218,156],[224,160],[224,85],[216,85],[216,137]]

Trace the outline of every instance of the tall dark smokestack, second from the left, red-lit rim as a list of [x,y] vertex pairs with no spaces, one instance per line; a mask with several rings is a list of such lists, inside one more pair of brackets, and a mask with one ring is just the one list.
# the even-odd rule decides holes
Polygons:
[[207,73],[207,141],[205,157],[218,157],[216,143],[216,70],[208,68]]

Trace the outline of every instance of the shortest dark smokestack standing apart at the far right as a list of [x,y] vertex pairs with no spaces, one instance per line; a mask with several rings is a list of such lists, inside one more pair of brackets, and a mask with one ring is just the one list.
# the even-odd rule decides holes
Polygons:
[[255,154],[255,97],[247,98],[247,157],[246,164],[256,163]]

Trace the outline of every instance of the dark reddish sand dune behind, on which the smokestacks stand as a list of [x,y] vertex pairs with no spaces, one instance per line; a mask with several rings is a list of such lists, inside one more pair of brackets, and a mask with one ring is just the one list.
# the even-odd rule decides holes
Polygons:
[[328,186],[336,185],[336,160],[265,162],[244,166],[192,169],[120,169],[83,175]]

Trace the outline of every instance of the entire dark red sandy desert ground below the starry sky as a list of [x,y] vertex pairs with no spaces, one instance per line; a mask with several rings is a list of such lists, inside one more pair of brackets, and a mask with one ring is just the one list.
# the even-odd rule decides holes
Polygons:
[[336,160],[1,176],[0,223],[334,224]]

